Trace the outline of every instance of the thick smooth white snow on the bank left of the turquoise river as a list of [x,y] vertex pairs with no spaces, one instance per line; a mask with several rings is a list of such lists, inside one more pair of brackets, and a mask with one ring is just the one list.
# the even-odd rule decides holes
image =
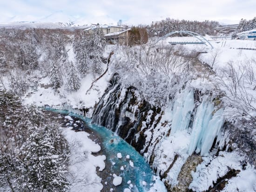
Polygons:
[[71,183],[70,191],[99,192],[103,188],[101,178],[96,174],[96,167],[99,171],[105,168],[105,155],[92,155],[92,152],[99,152],[101,147],[88,138],[87,132],[74,132],[72,127],[62,128],[67,139],[71,155],[68,166],[68,180]]

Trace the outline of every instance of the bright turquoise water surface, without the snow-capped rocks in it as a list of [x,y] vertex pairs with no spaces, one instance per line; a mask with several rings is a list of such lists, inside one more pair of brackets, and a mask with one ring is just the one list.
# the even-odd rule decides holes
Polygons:
[[[115,192],[122,192],[123,189],[128,188],[128,180],[131,180],[131,184],[134,185],[132,188],[132,192],[146,192],[149,190],[150,185],[154,183],[153,175],[154,172],[148,165],[148,163],[145,161],[145,159],[135,150],[134,147],[130,146],[126,141],[121,139],[121,137],[115,135],[114,132],[108,130],[104,126],[97,126],[95,124],[91,124],[91,119],[85,118],[84,116],[75,114],[75,113],[69,113],[65,110],[55,110],[51,108],[45,108],[46,110],[53,111],[56,113],[61,113],[65,115],[70,115],[71,117],[77,117],[81,120],[83,120],[92,131],[96,132],[96,135],[100,137],[101,139],[101,150],[104,155],[106,155],[107,159],[105,160],[106,166],[111,166],[110,173],[115,173],[117,176],[122,177],[122,183],[119,186],[115,187]],[[122,158],[117,158],[117,153],[121,152]],[[126,155],[130,156],[130,159],[126,159]],[[133,161],[134,167],[131,167],[129,165],[129,160]],[[115,162],[115,165],[112,165],[112,162]],[[121,171],[121,166],[126,166],[124,168],[124,171]],[[111,178],[111,184],[113,177]],[[146,181],[147,185],[143,186],[142,181]],[[104,191],[104,183],[103,190]],[[114,187],[114,185],[113,185]]]

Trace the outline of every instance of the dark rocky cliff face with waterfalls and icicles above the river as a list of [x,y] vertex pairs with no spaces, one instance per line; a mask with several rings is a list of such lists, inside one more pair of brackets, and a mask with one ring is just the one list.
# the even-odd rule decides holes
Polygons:
[[92,119],[134,146],[169,190],[184,191],[193,181],[191,171],[206,163],[203,156],[218,157],[229,148],[222,113],[218,98],[189,87],[175,93],[165,108],[152,106],[135,87],[122,87],[115,73]]

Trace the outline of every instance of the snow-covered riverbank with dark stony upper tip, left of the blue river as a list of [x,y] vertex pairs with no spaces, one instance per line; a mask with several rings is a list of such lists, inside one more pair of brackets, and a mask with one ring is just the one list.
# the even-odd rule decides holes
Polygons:
[[105,169],[106,156],[101,152],[101,141],[81,119],[67,113],[49,112],[60,123],[70,146],[67,174],[71,184],[70,192],[103,191],[101,177],[97,174],[99,170]]

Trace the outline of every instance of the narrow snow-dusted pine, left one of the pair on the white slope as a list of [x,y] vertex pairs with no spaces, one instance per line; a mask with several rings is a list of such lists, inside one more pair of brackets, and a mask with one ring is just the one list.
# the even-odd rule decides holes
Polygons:
[[53,85],[54,89],[61,87],[62,78],[59,66],[55,63],[51,63],[51,71],[50,71],[50,83]]

